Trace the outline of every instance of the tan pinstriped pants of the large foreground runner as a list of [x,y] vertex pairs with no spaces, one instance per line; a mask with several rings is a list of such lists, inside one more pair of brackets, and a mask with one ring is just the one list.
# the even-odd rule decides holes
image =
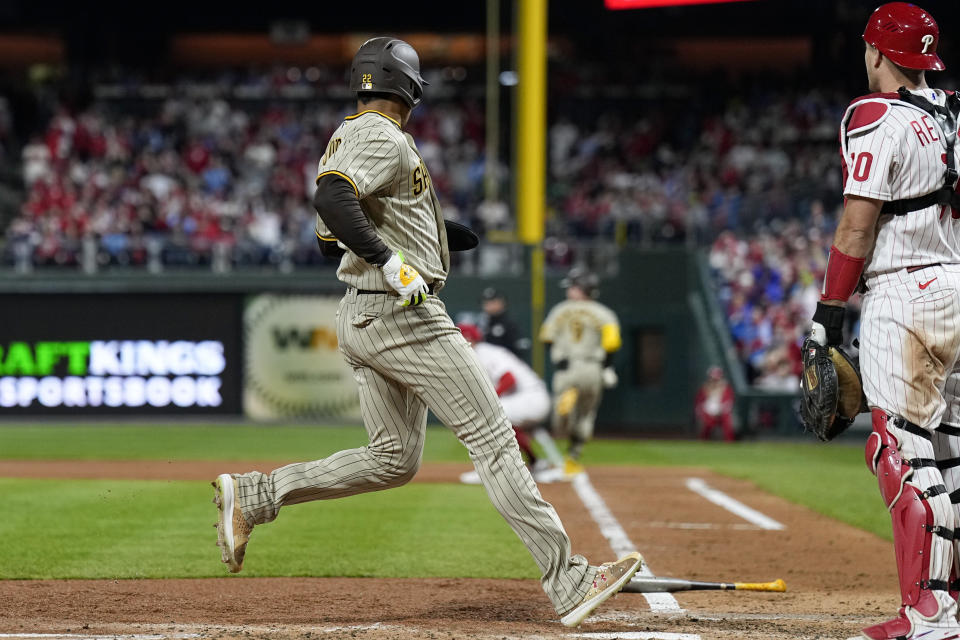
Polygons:
[[370,443],[270,474],[236,476],[244,516],[262,524],[285,505],[405,484],[420,466],[429,408],[466,446],[493,505],[540,568],[556,611],[572,609],[590,588],[595,568],[571,555],[563,525],[523,464],[473,349],[439,298],[415,307],[396,302],[393,295],[350,289],[337,312],[340,351],[360,388]]

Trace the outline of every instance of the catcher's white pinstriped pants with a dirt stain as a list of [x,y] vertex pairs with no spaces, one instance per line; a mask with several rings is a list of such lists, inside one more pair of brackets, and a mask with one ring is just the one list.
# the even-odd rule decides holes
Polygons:
[[[928,440],[896,428],[904,459],[934,459],[908,482],[920,491],[943,484],[947,492],[927,503],[934,522],[960,523],[960,265],[906,269],[867,278],[860,328],[864,393],[873,408],[898,415],[931,433]],[[922,287],[922,288],[921,288]],[[946,428],[938,427],[945,425]],[[951,429],[953,427],[954,429]],[[952,505],[951,505],[952,503]],[[950,579],[960,568],[960,540],[932,536],[930,578]],[[955,571],[960,575],[960,571]],[[957,605],[934,591],[943,612]]]

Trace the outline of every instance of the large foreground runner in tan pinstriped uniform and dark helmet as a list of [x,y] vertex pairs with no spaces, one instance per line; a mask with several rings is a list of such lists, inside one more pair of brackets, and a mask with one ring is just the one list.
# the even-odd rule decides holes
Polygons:
[[406,42],[373,38],[360,47],[350,78],[358,113],[334,131],[314,195],[317,235],[327,250],[335,242],[344,250],[337,275],[348,289],[337,338],[359,386],[370,443],[269,474],[220,475],[217,544],[238,572],[253,527],[281,507],[409,482],[429,408],[466,446],[491,501],[540,568],[561,622],[575,626],[630,580],[642,558],[631,553],[593,567],[571,555],[493,384],[435,295],[447,278],[447,237],[430,174],[403,131],[424,84]]

